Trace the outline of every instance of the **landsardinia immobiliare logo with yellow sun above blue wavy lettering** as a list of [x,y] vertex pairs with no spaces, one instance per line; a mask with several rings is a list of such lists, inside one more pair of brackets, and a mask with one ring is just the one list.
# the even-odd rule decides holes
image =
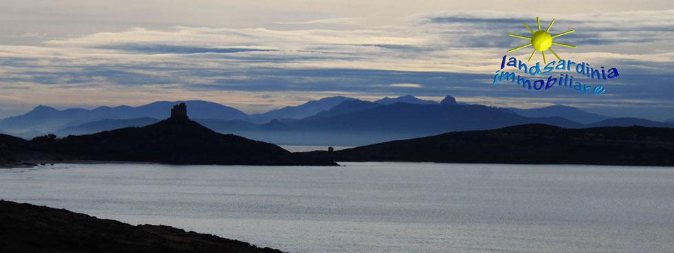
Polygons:
[[[529,60],[526,63],[517,60],[517,58],[513,56],[508,58],[508,55],[504,55],[501,59],[501,69],[497,70],[496,75],[494,76],[493,85],[501,85],[501,83],[508,84],[507,82],[510,81],[514,85],[521,85],[521,87],[532,91],[547,91],[554,87],[567,87],[567,89],[572,88],[572,90],[578,91],[580,94],[604,94],[607,90],[603,85],[604,81],[620,76],[618,69],[615,67],[607,68],[604,66],[599,68],[591,67],[590,64],[586,63],[585,61],[576,62],[570,59],[563,59],[559,57],[559,55],[554,52],[554,50],[552,50],[553,45],[569,48],[578,47],[575,45],[558,43],[555,42],[554,39],[572,32],[576,32],[576,30],[568,30],[566,32],[562,32],[561,34],[552,35],[550,34],[550,28],[552,28],[554,21],[554,19],[550,21],[550,25],[547,25],[546,30],[541,30],[541,21],[536,17],[536,24],[538,25],[539,29],[535,32],[529,27],[529,25],[523,23],[523,25],[531,32],[530,37],[518,34],[508,34],[508,36],[529,40],[528,44],[508,50],[508,53],[521,50],[529,46],[533,47],[534,52],[531,53]],[[552,53],[558,61],[551,61],[548,63],[547,59],[545,58],[546,51],[550,51],[550,53]],[[541,55],[543,56],[543,65],[538,62],[536,64],[531,63],[531,59],[534,58],[536,52],[541,52]],[[517,69],[517,71],[522,72],[523,75],[519,75],[516,72],[503,71],[505,67],[513,67]],[[586,76],[593,82],[596,80],[598,83],[588,84],[587,81],[583,81],[585,83],[581,83],[580,78],[573,76],[574,70],[576,74]],[[534,76],[538,78],[540,74],[550,74],[553,71],[561,73],[559,73],[558,76],[551,75],[547,78],[539,78],[536,80],[530,80],[528,78],[528,76]]]

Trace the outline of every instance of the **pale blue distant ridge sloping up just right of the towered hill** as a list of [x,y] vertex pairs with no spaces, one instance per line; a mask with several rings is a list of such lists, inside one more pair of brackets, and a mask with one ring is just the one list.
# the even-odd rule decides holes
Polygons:
[[294,107],[283,107],[266,113],[250,115],[248,119],[255,122],[269,122],[273,119],[301,119],[316,115],[316,113],[319,113],[320,111],[331,109],[337,104],[347,100],[354,100],[354,98],[343,96],[321,98]]

